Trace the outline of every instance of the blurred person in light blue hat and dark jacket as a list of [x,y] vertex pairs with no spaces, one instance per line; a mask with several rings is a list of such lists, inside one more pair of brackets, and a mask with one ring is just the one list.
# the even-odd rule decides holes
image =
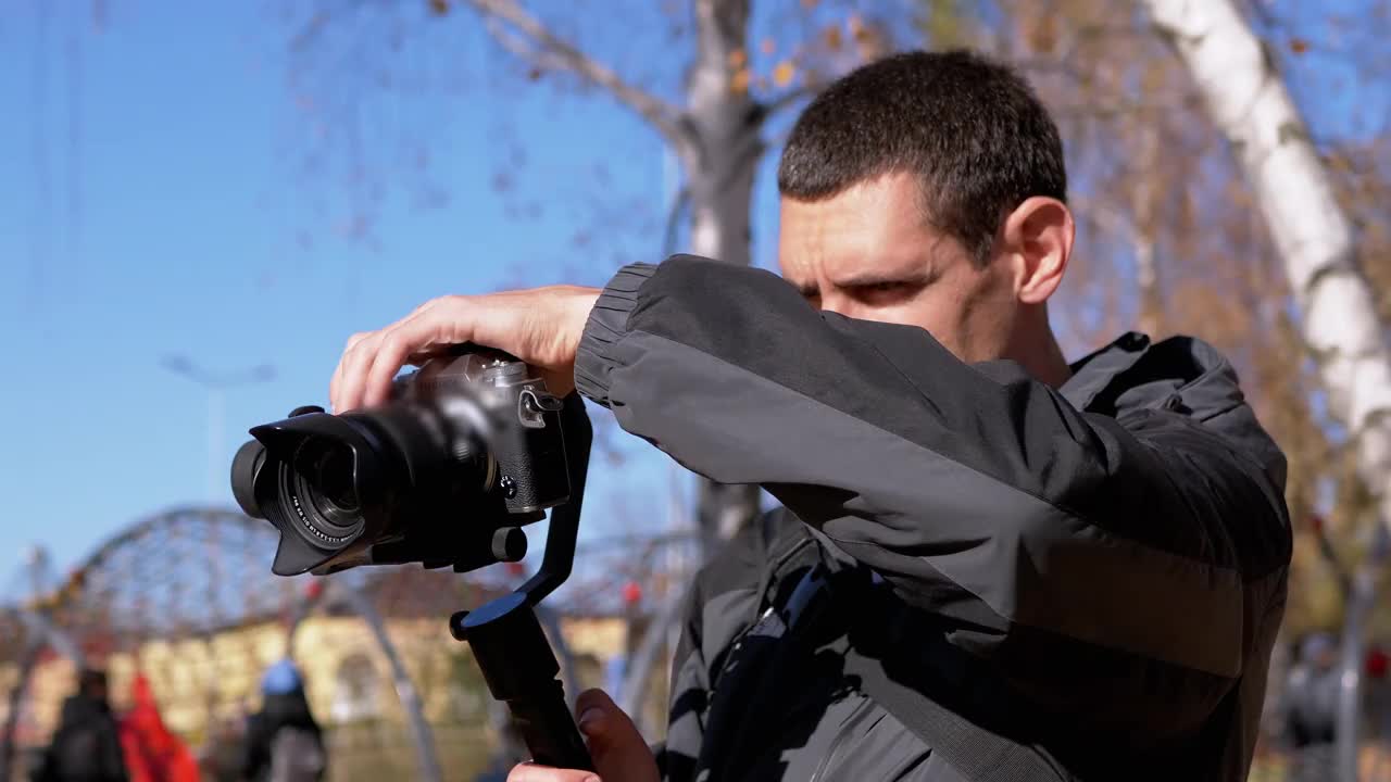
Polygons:
[[262,678],[262,710],[246,725],[242,776],[249,782],[310,782],[327,768],[323,731],[309,710],[305,680],[291,660]]

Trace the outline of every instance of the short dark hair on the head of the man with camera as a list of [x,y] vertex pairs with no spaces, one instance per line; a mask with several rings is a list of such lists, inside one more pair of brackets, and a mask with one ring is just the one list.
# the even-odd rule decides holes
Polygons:
[[821,200],[899,171],[919,179],[929,224],[976,264],[1024,199],[1067,200],[1047,110],[1018,74],[970,51],[894,54],[832,83],[793,127],[778,191]]

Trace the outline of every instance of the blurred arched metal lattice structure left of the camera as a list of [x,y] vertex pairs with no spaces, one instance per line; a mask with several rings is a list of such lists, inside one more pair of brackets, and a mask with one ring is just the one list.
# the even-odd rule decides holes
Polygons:
[[[136,650],[149,640],[211,637],[264,622],[287,626],[292,640],[295,616],[306,614],[312,576],[281,577],[270,572],[278,533],[266,522],[210,506],[179,506],[140,519],[102,543],[51,594],[32,601],[17,619],[32,636],[22,658],[17,693],[33,672],[38,651],[50,647],[81,665],[82,658]],[[348,584],[339,590],[352,591]],[[360,596],[359,596],[360,597]],[[399,655],[370,603],[349,600],[349,609],[373,630],[383,654],[399,668]],[[434,743],[421,704],[398,679],[401,707],[408,715],[423,776],[438,779]],[[18,708],[11,708],[3,736],[14,735]],[[426,733],[419,728],[426,725]],[[428,757],[426,757],[426,754]],[[434,769],[434,775],[428,775]],[[0,767],[0,782],[8,767]]]

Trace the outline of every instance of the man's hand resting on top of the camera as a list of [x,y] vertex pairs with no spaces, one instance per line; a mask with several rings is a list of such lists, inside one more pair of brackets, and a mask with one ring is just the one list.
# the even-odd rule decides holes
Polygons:
[[597,288],[554,285],[431,299],[380,331],[353,334],[338,360],[328,399],[335,413],[380,405],[402,366],[459,342],[512,353],[541,369],[547,388],[563,397],[574,388],[574,351],[598,295]]

